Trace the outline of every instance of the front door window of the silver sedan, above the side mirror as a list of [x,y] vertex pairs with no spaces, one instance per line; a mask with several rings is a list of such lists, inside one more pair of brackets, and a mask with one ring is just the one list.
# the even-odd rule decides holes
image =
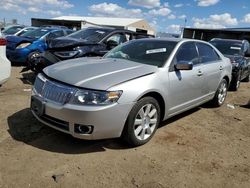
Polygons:
[[199,56],[194,42],[187,42],[180,46],[175,56],[175,63],[192,62],[199,63]]

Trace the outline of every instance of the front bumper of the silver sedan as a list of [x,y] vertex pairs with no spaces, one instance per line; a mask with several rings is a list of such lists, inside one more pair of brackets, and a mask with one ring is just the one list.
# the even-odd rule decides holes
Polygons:
[[[108,106],[59,105],[44,101],[36,95],[33,97],[43,103],[42,114],[38,114],[31,104],[31,111],[39,121],[73,137],[86,140],[120,137],[127,116],[134,105],[134,103],[115,103]],[[92,126],[93,131],[90,134],[80,134],[75,131],[77,125]]]

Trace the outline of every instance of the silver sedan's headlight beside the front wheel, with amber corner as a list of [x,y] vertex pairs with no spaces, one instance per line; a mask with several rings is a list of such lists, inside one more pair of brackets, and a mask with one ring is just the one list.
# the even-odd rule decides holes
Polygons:
[[118,101],[122,91],[92,91],[79,90],[76,92],[72,104],[80,105],[108,105]]

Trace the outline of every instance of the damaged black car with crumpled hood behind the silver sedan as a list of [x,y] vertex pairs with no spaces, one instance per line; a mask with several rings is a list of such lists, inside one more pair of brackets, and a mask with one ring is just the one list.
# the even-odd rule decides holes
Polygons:
[[66,59],[103,56],[115,46],[129,40],[153,37],[129,30],[90,27],[50,41],[48,50],[34,62],[37,71]]

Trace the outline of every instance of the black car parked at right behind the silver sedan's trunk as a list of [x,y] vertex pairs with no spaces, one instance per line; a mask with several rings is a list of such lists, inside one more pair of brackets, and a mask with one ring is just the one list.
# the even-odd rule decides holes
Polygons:
[[249,42],[247,40],[216,38],[212,39],[210,43],[231,60],[233,71],[230,88],[237,91],[241,81],[249,82],[250,59],[246,56],[249,51]]

